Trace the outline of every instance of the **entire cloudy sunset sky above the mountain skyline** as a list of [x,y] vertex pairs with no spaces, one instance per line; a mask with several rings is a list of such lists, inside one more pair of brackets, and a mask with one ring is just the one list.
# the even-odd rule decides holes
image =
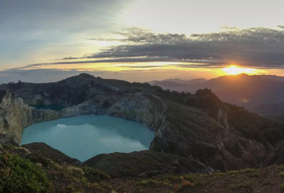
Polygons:
[[[284,76],[282,0],[0,0],[0,82]],[[232,68],[231,70],[234,70]],[[233,73],[229,73],[233,74]]]

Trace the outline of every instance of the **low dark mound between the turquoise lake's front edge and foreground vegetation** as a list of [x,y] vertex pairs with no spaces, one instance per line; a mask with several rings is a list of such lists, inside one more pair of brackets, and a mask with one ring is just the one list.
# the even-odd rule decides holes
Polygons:
[[83,165],[116,178],[213,172],[212,168],[193,159],[154,151],[100,154],[83,162]]

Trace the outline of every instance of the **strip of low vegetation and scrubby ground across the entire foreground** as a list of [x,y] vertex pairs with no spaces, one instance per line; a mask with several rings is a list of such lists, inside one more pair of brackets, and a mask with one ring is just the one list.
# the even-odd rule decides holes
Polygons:
[[110,178],[21,147],[0,149],[0,193],[282,193],[284,166],[227,173]]

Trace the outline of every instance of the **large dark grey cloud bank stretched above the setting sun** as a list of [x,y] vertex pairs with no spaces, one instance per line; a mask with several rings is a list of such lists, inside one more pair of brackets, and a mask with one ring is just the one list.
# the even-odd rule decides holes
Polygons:
[[[277,27],[277,29],[225,27],[226,30],[222,32],[190,36],[130,28],[124,32],[114,33],[124,36],[125,38],[120,41],[127,42],[126,45],[107,47],[91,55],[63,59],[112,58],[105,61],[185,61],[195,64],[206,61],[208,67],[236,63],[245,67],[282,69],[284,68],[284,26]],[[100,40],[119,39],[100,38]],[[188,65],[188,67],[193,66]]]

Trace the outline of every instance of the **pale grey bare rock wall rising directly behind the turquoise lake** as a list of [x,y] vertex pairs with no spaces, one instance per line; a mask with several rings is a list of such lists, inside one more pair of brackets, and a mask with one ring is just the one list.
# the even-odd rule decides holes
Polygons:
[[144,124],[156,130],[164,122],[165,104],[157,96],[143,92],[124,95],[97,95],[76,106],[60,111],[60,117],[110,115]]

